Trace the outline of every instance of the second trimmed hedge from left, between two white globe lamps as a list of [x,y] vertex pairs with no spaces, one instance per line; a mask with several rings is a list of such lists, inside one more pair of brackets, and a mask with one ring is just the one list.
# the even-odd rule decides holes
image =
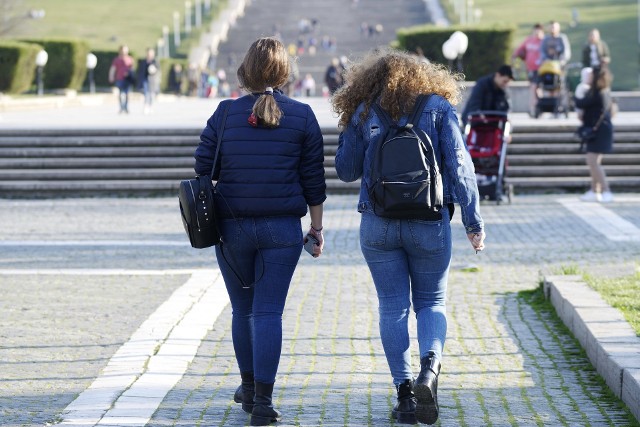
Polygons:
[[24,40],[35,43],[49,54],[44,67],[45,89],[80,90],[87,75],[89,45],[84,40]]

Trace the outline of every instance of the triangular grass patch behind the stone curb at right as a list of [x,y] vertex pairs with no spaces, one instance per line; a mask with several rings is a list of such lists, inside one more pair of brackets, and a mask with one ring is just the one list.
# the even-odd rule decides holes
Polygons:
[[583,277],[609,305],[622,312],[640,337],[640,273],[619,278],[594,277],[588,274]]

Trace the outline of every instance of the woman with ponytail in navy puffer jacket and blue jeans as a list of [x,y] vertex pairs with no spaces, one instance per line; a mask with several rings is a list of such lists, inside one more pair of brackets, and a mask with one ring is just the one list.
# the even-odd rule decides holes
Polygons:
[[[324,246],[323,139],[311,108],[281,91],[290,70],[280,41],[256,40],[237,72],[248,94],[220,103],[195,152],[196,173],[210,174],[220,144],[213,175],[222,219],[216,257],[231,300],[242,379],[234,400],[251,414],[251,425],[280,420],[272,394],[289,284],[308,236],[318,242],[314,257]],[[307,210],[311,224],[304,236],[300,219]]]

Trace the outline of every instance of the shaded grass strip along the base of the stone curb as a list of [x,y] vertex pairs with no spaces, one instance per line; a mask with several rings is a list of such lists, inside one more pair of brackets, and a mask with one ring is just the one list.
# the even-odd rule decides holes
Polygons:
[[[606,411],[607,406],[613,406],[620,409],[624,412],[624,416],[626,420],[624,420],[624,424],[616,424],[616,425],[625,425],[629,427],[640,427],[640,423],[635,419],[629,408],[625,405],[625,403],[618,399],[615,394],[611,391],[611,389],[604,382],[604,379],[595,371],[589,359],[587,357],[586,352],[580,346],[578,340],[573,336],[571,331],[564,325],[560,317],[555,311],[555,308],[544,296],[544,290],[542,283],[533,289],[528,291],[520,291],[518,292],[518,298],[529,304],[540,316],[541,319],[544,319],[547,323],[547,328],[554,331],[554,335],[571,337],[573,341],[572,346],[560,346],[562,352],[565,353],[564,356],[571,360],[570,367],[576,372],[585,372],[592,373],[589,375],[589,382],[582,384],[583,388],[587,388],[590,390],[590,394],[593,393],[593,387],[598,387],[600,390],[596,394],[598,394],[598,409]],[[563,339],[564,341],[564,339]],[[569,348],[569,349],[568,349]],[[621,420],[617,419],[616,422]]]

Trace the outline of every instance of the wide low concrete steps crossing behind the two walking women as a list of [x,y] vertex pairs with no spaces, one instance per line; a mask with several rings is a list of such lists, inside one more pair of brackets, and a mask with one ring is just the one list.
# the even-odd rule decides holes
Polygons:
[[[171,195],[194,176],[201,129],[0,131],[0,197]],[[330,193],[356,193],[334,169],[338,131],[324,129]],[[604,158],[614,191],[640,190],[640,126],[616,128]],[[507,180],[516,193],[581,191],[589,172],[572,127],[516,128]]]

